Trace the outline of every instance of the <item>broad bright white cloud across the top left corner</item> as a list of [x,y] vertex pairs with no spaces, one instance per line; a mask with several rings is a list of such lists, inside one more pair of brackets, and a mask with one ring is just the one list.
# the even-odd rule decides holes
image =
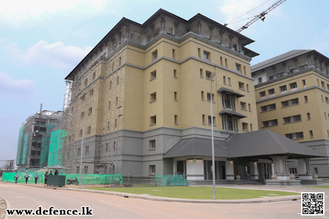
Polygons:
[[[111,1],[107,0],[13,0],[0,1],[0,27],[15,26],[22,28],[35,25],[36,22],[43,22],[51,17],[57,19],[66,15],[91,17],[101,12],[106,12]],[[111,12],[112,13],[112,12]],[[66,16],[67,17],[67,16]]]

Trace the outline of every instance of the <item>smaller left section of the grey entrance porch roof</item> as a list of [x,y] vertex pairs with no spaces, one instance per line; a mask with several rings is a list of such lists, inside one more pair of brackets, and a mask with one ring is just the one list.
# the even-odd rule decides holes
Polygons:
[[[215,157],[229,157],[223,141],[214,141]],[[170,149],[163,158],[204,156],[212,157],[212,140],[201,138],[183,139]]]

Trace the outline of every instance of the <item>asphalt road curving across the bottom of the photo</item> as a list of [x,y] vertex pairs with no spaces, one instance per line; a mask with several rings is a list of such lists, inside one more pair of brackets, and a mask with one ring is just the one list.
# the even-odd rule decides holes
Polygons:
[[[269,189],[269,188],[263,188]],[[309,189],[278,188],[289,191],[316,191]],[[322,190],[325,191],[325,190]],[[329,204],[329,191],[325,191],[325,206]],[[283,201],[258,204],[199,204],[151,201],[135,198],[124,198],[105,194],[77,192],[44,187],[31,187],[0,182],[0,197],[13,208],[29,208],[36,210],[39,206],[44,209],[54,206],[56,209],[78,209],[90,206],[93,216],[8,216],[8,218],[312,218],[302,216],[301,201]],[[328,209],[328,208],[325,208]],[[329,218],[329,209],[325,216]]]

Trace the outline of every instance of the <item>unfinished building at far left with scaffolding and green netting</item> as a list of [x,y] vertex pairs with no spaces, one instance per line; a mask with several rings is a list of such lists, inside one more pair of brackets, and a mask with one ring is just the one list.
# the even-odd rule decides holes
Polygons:
[[63,111],[44,110],[22,123],[16,157],[19,171],[47,166],[51,131],[60,123],[62,114]]

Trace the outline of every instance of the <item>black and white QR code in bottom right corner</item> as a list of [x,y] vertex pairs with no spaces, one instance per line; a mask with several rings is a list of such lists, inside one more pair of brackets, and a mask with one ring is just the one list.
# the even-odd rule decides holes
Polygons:
[[302,215],[324,215],[324,192],[302,193]]

